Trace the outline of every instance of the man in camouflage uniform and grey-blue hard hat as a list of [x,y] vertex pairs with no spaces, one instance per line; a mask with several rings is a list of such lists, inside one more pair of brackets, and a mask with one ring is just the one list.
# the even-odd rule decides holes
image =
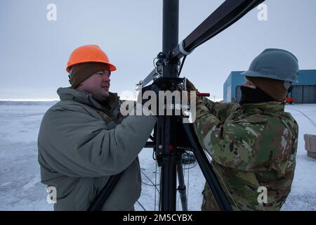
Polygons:
[[[266,49],[243,73],[239,103],[197,98],[197,136],[233,210],[280,210],[291,191],[298,124],[283,99],[297,74],[293,54]],[[207,184],[202,210],[219,210]]]

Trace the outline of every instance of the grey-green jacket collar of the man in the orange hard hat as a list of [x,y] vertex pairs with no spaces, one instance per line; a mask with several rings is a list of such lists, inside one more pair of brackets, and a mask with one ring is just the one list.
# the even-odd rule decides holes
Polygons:
[[117,103],[119,103],[119,96],[117,96],[116,93],[109,92],[110,96],[102,103],[98,103],[94,98],[92,98],[92,95],[89,93],[86,93],[84,91],[78,91],[76,89],[72,89],[70,87],[60,87],[57,90],[57,94],[60,97],[61,101],[70,100],[70,101],[77,101],[79,103],[83,103],[86,105],[90,105],[93,108],[98,108],[100,110],[109,110],[112,112],[112,110],[115,108]]

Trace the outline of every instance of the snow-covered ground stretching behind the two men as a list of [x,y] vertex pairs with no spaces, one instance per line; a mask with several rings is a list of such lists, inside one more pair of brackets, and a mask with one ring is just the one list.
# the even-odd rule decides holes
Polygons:
[[[53,206],[46,202],[48,193],[46,186],[40,182],[37,162],[39,125],[51,105],[53,103],[0,102],[0,210],[53,210]],[[316,127],[305,117],[307,115],[316,122],[316,104],[287,105],[286,110],[299,124],[299,139],[292,191],[282,210],[316,210],[316,160],[307,157],[303,139],[303,134],[316,134]],[[140,153],[140,166],[142,172],[154,182],[156,164],[152,160],[152,149],[144,148]],[[200,210],[205,179],[198,165],[192,169],[187,167],[192,165],[184,169],[188,208]],[[151,184],[144,174],[143,182]],[[145,184],[139,203],[146,210],[154,210],[155,188]],[[158,196],[156,193],[156,203]],[[181,210],[180,200],[178,203],[178,210]],[[136,203],[136,210],[143,210],[140,204]]]

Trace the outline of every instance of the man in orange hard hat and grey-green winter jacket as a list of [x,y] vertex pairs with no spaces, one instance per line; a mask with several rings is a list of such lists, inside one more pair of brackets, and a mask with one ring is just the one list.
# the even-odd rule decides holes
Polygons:
[[119,96],[109,91],[116,68],[99,46],[75,49],[66,70],[72,86],[58,89],[38,139],[41,181],[56,190],[54,210],[88,210],[116,174],[101,210],[133,210],[141,191],[137,155],[157,119],[119,113]]

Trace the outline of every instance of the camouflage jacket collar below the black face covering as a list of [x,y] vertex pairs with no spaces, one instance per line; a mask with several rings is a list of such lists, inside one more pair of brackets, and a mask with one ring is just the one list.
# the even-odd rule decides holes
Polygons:
[[241,105],[244,109],[244,113],[249,115],[284,112],[284,103],[277,101],[269,101],[265,103],[244,103]]

